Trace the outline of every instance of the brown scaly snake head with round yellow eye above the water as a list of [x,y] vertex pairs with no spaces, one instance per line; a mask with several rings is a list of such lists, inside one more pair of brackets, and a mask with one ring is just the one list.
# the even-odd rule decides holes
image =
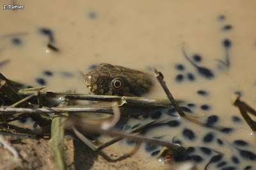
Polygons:
[[152,86],[148,73],[102,63],[84,75],[84,84],[95,95],[140,97]]

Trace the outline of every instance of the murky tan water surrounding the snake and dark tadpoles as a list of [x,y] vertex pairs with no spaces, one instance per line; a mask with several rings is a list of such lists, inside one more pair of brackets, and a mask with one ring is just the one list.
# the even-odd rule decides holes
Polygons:
[[[204,155],[200,147],[225,153],[226,166],[256,167],[255,162],[241,158],[239,150],[232,146],[234,141],[244,140],[250,143],[246,150],[256,152],[255,134],[230,102],[239,91],[242,99],[256,108],[254,1],[20,1],[19,4],[24,5],[24,10],[0,10],[0,61],[10,59],[0,71],[8,79],[29,86],[45,85],[47,91],[89,93],[80,72],[86,73],[100,63],[148,72],[155,67],[163,72],[175,98],[195,104],[189,107],[191,114],[200,116],[202,121],[216,115],[219,118],[216,125],[236,130],[220,134],[173,118],[181,122],[180,127],[154,128],[148,136],[163,135],[167,141],[176,136],[186,147],[199,147],[196,155],[204,158],[198,164],[200,168],[215,154],[212,151]],[[52,45],[59,52],[46,46],[47,30],[52,31]],[[182,48],[194,65],[185,58]],[[198,66],[211,70],[213,75],[205,76]],[[206,95],[198,94],[200,90],[206,91]],[[166,97],[157,83],[148,96]],[[161,119],[170,118],[166,112],[163,111]],[[241,122],[234,122],[234,116],[241,118]],[[132,126],[142,122],[130,123]],[[184,128],[193,130],[196,139],[184,139]],[[216,133],[216,141],[221,139],[224,146],[202,143],[201,138],[210,131]],[[120,145],[127,146],[125,141]],[[143,145],[137,154],[148,158],[152,152],[145,153]],[[239,163],[232,160],[232,155]],[[214,169],[216,164],[208,168]]]

